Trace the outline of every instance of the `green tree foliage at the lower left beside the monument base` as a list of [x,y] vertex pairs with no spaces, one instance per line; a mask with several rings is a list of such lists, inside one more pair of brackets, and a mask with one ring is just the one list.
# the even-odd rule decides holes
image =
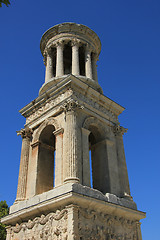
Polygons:
[[[9,207],[6,201],[0,202],[0,219],[9,213]],[[0,222],[0,240],[6,239],[6,229],[5,225]]]

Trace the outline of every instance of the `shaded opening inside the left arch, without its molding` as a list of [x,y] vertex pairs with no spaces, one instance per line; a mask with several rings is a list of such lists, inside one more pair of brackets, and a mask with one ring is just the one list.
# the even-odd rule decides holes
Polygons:
[[51,190],[54,187],[55,175],[55,136],[53,125],[46,126],[39,137],[37,194]]

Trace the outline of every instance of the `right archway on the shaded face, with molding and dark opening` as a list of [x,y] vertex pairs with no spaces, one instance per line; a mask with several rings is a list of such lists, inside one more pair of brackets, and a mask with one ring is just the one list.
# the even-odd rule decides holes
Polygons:
[[[88,170],[88,177],[92,174],[93,188],[101,191],[103,194],[110,192],[108,156],[107,156],[107,139],[109,129],[95,117],[87,118],[83,123],[83,129],[88,131],[88,138],[84,145],[88,146],[88,154],[84,154],[83,158],[89,156],[91,151],[91,170]],[[86,148],[85,148],[86,149]],[[87,160],[83,159],[83,163]]]

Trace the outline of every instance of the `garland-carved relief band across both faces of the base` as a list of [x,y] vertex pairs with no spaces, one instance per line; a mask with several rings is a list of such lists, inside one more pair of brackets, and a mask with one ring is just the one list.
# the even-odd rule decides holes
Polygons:
[[[140,240],[139,221],[78,207],[78,225],[74,225],[68,222],[68,214],[66,207],[9,227],[7,233],[11,239],[25,236],[24,240],[68,240],[72,234],[77,240]],[[73,228],[77,225],[77,230],[69,232],[68,224],[73,224]]]

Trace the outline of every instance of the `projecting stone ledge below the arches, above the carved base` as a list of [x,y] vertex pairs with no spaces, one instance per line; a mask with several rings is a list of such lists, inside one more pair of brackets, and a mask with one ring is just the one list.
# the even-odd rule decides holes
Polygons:
[[[116,197],[116,196],[115,196]],[[14,204],[10,208],[10,214],[4,217],[1,221],[4,224],[16,223],[21,218],[27,219],[36,214],[44,214],[46,209],[57,209],[59,207],[75,204],[77,206],[91,206],[100,211],[103,209],[105,214],[113,214],[117,216],[125,216],[129,219],[140,220],[145,218],[145,213],[138,211],[135,208],[133,201],[121,199],[117,197],[119,203],[109,200],[101,192],[91,189],[80,184],[66,183],[58,188],[50,190],[34,196],[29,200]],[[33,205],[34,203],[34,205]]]

